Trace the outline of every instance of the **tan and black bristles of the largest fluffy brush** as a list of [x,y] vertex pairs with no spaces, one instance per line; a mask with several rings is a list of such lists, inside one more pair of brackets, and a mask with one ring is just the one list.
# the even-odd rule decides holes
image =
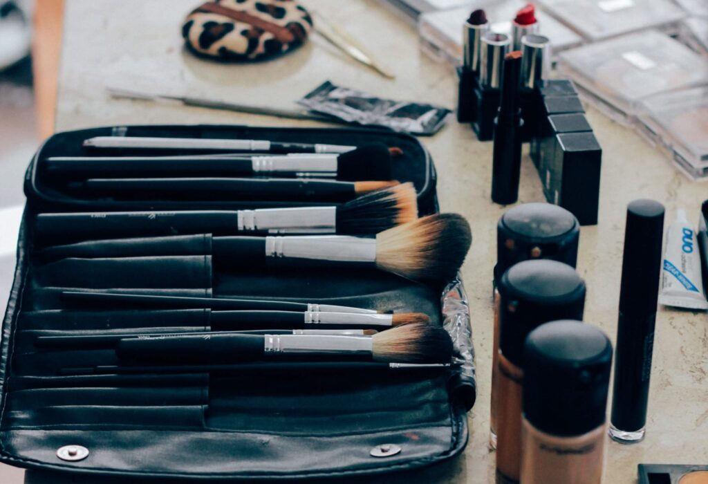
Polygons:
[[429,215],[377,234],[376,265],[412,280],[452,280],[471,244],[464,217]]

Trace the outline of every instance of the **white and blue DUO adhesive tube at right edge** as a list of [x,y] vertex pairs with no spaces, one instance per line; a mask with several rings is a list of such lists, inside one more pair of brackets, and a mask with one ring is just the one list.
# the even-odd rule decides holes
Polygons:
[[685,309],[708,309],[698,239],[684,210],[678,210],[666,233],[659,303]]

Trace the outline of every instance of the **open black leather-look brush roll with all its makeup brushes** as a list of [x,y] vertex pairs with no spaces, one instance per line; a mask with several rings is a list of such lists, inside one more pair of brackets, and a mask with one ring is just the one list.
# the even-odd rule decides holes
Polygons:
[[40,147],[25,193],[0,363],[17,461],[337,478],[462,451],[472,238],[416,138],[84,129]]

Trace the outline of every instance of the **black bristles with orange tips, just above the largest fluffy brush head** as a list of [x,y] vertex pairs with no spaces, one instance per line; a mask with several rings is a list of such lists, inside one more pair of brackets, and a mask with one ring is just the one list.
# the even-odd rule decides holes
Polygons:
[[378,234],[418,218],[413,183],[401,183],[356,197],[337,207],[338,234]]

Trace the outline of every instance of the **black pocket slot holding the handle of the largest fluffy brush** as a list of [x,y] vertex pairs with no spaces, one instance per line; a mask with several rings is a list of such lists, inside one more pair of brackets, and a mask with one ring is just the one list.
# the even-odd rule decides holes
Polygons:
[[50,246],[38,250],[35,260],[50,263],[64,258],[122,258],[161,255],[211,255],[212,236],[195,234],[164,237],[108,238]]

